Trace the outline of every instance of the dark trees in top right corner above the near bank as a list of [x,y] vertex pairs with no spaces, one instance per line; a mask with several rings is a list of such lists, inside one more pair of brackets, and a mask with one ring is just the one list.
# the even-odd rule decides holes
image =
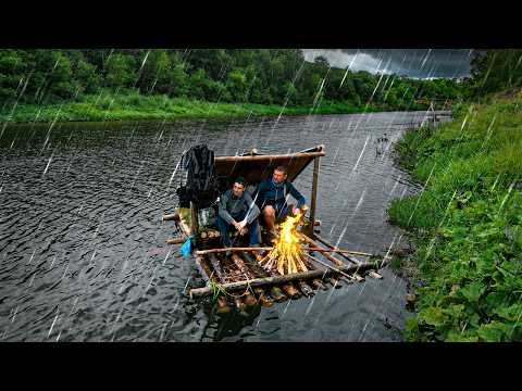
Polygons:
[[522,87],[522,50],[477,51],[465,86],[470,98]]

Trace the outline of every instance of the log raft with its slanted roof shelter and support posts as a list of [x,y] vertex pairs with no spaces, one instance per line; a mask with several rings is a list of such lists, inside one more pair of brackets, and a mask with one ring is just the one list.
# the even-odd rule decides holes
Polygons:
[[[270,177],[277,165],[285,165],[288,168],[288,180],[291,182],[313,162],[310,216],[300,232],[303,253],[306,254],[303,262],[308,272],[289,275],[271,274],[257,263],[252,255],[253,252],[249,249],[238,249],[233,252],[231,258],[227,258],[223,252],[212,250],[221,248],[217,236],[210,237],[209,235],[206,237],[197,234],[194,240],[196,251],[194,251],[192,256],[208,285],[202,288],[190,289],[190,298],[212,295],[216,292],[217,287],[219,291],[224,293],[217,297],[217,306],[221,310],[229,310],[226,299],[231,298],[239,308],[258,302],[270,306],[273,300],[281,302],[301,295],[308,297],[313,294],[314,290],[328,289],[328,285],[338,288],[343,283],[360,282],[364,280],[364,275],[372,278],[382,278],[375,270],[386,264],[387,257],[375,260],[371,254],[353,252],[358,256],[368,257],[368,261],[361,262],[348,255],[346,251],[339,251],[314,232],[314,226],[319,223],[315,219],[315,214],[320,159],[324,155],[324,146],[318,146],[291,154],[264,155],[258,154],[253,150],[244,155],[214,157],[217,176],[225,176],[231,179],[243,176],[248,184],[259,184],[262,179]],[[191,204],[189,220],[188,216],[183,216],[179,213],[181,218],[176,220],[176,224],[185,237],[198,232],[197,212],[195,205]],[[163,216],[163,219],[171,218]],[[167,242],[179,242],[179,239],[170,239]],[[309,248],[307,249],[304,244],[308,244]],[[263,243],[262,245],[269,247],[271,244]],[[310,248],[315,250],[310,250]],[[323,261],[318,256],[322,256]]]

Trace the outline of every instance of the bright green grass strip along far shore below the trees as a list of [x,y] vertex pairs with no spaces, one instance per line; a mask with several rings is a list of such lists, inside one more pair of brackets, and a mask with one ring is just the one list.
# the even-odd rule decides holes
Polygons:
[[[422,110],[422,106],[412,110]],[[206,101],[171,99],[165,96],[102,94],[86,96],[79,101],[57,104],[18,104],[0,111],[0,122],[65,122],[65,121],[123,121],[174,119],[182,117],[228,117],[248,115],[350,114],[393,110],[386,105],[356,106],[350,103],[322,101],[316,108],[265,105],[254,103],[212,103]],[[399,110],[399,109],[396,109]]]

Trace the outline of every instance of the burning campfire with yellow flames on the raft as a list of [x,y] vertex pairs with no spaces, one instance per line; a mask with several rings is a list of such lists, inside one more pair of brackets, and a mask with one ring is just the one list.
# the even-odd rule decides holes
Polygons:
[[279,227],[279,237],[274,241],[274,247],[262,260],[261,266],[268,270],[276,269],[281,275],[308,272],[302,262],[302,250],[299,243],[297,225],[302,217],[302,211],[296,216],[288,216]]

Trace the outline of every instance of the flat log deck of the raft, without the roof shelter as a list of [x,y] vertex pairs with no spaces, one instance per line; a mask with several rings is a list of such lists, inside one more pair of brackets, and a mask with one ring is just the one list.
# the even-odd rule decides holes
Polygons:
[[[163,216],[163,220],[174,219],[181,224],[182,231],[188,232],[188,226],[178,215]],[[219,232],[217,232],[219,234]],[[374,262],[361,262],[352,255],[372,257],[372,254],[339,250],[323,238],[315,235],[315,240],[300,234],[302,252],[308,272],[279,275],[277,272],[265,270],[256,260],[256,250],[250,248],[234,248],[231,257],[225,256],[225,249],[195,251],[196,264],[207,281],[203,288],[192,288],[189,295],[202,298],[214,294],[214,287],[226,291],[216,298],[217,311],[229,312],[231,304],[239,311],[254,306],[272,306],[275,302],[288,299],[311,297],[314,291],[327,290],[328,286],[340,288],[343,285],[364,281],[364,276],[383,278],[375,273],[384,266],[387,257]],[[182,243],[185,238],[169,239],[171,244]],[[320,244],[321,243],[321,244]],[[308,247],[304,247],[308,244]],[[269,250],[271,248],[263,248]],[[334,255],[335,254],[335,255]],[[319,256],[330,262],[325,263]],[[345,262],[337,256],[343,257]]]

